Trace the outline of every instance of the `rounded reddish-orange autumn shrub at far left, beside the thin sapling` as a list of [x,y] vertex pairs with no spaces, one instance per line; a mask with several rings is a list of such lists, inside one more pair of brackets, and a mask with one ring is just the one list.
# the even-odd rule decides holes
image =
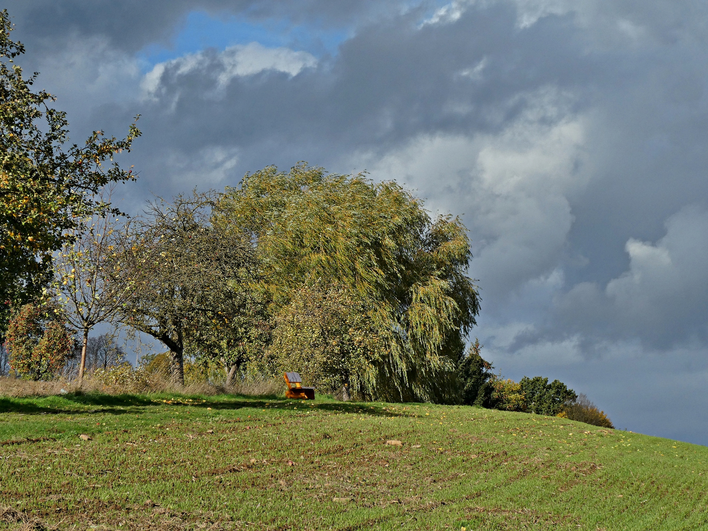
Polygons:
[[25,304],[8,324],[9,363],[23,379],[52,379],[72,355],[74,341],[55,314]]

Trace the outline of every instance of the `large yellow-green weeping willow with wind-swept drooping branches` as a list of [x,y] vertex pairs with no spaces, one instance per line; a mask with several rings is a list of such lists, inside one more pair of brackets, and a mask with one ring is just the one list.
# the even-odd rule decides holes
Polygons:
[[[421,200],[394,182],[299,164],[288,173],[269,166],[246,175],[239,188],[227,189],[215,219],[249,234],[279,326],[307,326],[297,315],[316,311],[319,295],[302,298],[302,290],[314,286],[330,294],[346,291],[336,304],[349,299],[348,307],[365,314],[360,329],[374,331],[367,337],[375,341],[367,341],[348,367],[353,392],[457,399],[455,366],[479,313],[459,218],[431,219]],[[355,316],[350,319],[356,329]],[[280,350],[272,358],[281,360],[274,370],[292,363],[289,351],[313,345],[307,333],[281,333],[291,339],[274,342]]]

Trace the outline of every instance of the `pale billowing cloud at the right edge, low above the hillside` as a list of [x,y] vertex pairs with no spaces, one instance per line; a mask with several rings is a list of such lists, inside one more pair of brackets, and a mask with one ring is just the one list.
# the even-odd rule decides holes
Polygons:
[[556,296],[556,328],[571,324],[593,341],[639,340],[650,351],[705,341],[708,212],[685,207],[655,244],[629,239],[625,250],[629,268],[604,287],[581,282]]

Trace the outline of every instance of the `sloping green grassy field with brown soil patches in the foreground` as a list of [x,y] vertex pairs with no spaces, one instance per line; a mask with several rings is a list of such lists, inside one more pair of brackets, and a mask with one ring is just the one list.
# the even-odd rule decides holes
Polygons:
[[0,411],[0,528],[708,529],[708,447],[560,418],[173,394]]

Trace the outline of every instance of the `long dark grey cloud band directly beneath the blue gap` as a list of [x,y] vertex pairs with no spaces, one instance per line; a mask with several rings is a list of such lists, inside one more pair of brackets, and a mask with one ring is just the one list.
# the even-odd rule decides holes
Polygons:
[[[334,156],[386,152],[420,134],[498,131],[523,113],[529,93],[548,84],[580,91],[597,69],[593,58],[577,61],[581,50],[564,20],[518,31],[515,10],[502,5],[450,27],[416,22],[365,28],[335,59],[297,76],[234,75],[219,90],[228,68],[222,53],[169,62],[151,93],[156,101],[144,107],[145,123],[159,122],[167,133],[159,142],[168,146],[225,142],[258,160],[270,142],[296,151],[324,142],[336,147]],[[481,63],[484,77],[471,79],[467,71]],[[184,135],[192,126],[197,135]]]

